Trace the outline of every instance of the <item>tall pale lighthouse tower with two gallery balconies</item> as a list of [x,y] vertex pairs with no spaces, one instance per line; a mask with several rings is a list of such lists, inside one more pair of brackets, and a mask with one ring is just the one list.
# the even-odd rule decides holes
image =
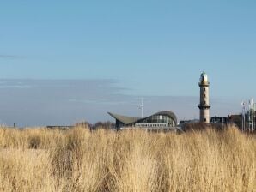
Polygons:
[[208,76],[205,72],[201,74],[199,87],[200,87],[200,122],[210,123],[210,97],[209,97],[209,86]]

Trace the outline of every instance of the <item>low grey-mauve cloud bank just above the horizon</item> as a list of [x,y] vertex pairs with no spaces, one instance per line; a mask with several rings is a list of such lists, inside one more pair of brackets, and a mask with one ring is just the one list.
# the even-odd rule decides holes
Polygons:
[[[119,81],[113,80],[0,79],[0,124],[16,123],[23,127],[70,125],[83,120],[114,121],[107,111],[140,117],[141,96],[123,92]],[[199,96],[144,96],[143,99],[144,116],[156,111],[174,111],[178,119],[199,117]],[[239,101],[234,99],[213,98],[211,104],[211,116],[240,111]]]

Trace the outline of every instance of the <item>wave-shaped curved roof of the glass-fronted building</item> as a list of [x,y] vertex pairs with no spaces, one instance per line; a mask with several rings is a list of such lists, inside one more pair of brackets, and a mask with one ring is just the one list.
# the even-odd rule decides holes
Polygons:
[[137,121],[139,120],[143,120],[143,119],[146,119],[146,118],[149,118],[149,117],[152,117],[152,116],[157,116],[157,115],[162,115],[162,116],[168,116],[168,117],[171,117],[174,122],[177,124],[177,117],[175,116],[174,112],[172,111],[160,111],[160,112],[157,112],[149,117],[143,117],[143,118],[138,118],[138,117],[127,117],[127,116],[122,116],[122,115],[118,115],[118,114],[113,114],[111,112],[108,112],[108,114],[119,120],[119,122],[122,122],[122,123],[125,123],[125,124],[131,124],[131,123],[137,123]]

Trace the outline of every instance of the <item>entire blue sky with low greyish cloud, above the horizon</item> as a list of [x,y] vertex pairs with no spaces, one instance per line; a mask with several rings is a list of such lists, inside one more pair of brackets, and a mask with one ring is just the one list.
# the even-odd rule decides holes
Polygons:
[[211,116],[256,99],[256,2],[2,1],[0,123],[112,120],[174,111],[198,118],[210,78]]

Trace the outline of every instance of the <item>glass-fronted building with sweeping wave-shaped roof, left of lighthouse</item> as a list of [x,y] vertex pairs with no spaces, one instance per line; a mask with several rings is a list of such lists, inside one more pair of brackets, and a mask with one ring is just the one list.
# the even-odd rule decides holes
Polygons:
[[108,114],[115,118],[116,129],[174,129],[177,126],[177,117],[172,111],[160,111],[149,117],[126,117],[119,114]]

